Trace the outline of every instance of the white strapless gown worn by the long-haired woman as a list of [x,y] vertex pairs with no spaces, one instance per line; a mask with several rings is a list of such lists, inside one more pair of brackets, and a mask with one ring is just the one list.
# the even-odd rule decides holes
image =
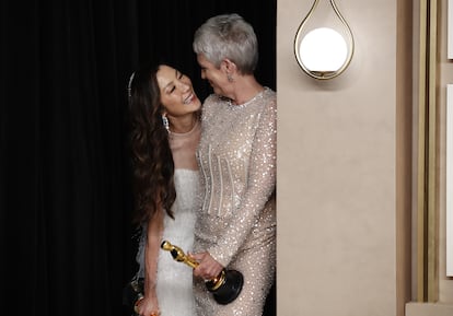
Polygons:
[[[162,239],[181,247],[186,254],[194,244],[195,214],[198,206],[198,172],[175,169],[176,200],[173,204],[175,219],[165,216]],[[139,277],[144,276],[144,236],[140,238],[137,261]],[[161,249],[158,260],[156,293],[161,316],[195,316],[193,269],[173,259],[170,251]]]

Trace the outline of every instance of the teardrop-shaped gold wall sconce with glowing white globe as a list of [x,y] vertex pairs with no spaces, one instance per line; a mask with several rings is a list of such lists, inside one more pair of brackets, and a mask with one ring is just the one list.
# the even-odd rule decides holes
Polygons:
[[330,5],[326,3],[324,10],[318,8],[320,0],[313,2],[294,38],[299,66],[310,77],[321,80],[344,72],[352,59],[355,46],[352,32],[335,1],[326,1]]

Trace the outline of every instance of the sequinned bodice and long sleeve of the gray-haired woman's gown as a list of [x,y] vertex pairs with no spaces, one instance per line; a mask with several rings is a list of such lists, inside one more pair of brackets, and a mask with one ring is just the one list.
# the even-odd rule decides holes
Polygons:
[[[276,94],[265,89],[243,105],[218,95],[204,104],[197,151],[202,208],[196,239],[224,266],[266,214],[276,183]],[[264,211],[265,209],[265,211]]]

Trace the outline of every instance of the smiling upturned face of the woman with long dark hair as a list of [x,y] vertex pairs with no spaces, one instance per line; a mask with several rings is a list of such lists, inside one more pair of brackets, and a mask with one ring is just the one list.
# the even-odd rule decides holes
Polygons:
[[162,65],[156,72],[161,92],[161,102],[169,118],[187,117],[201,107],[201,102],[194,92],[190,79],[178,70]]

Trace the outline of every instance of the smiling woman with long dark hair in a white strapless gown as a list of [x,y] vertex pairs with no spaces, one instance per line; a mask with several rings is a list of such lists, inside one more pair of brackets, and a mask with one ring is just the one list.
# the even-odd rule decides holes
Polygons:
[[133,221],[141,227],[136,278],[144,278],[138,315],[195,315],[190,268],[160,246],[193,246],[200,107],[190,79],[167,65],[141,68],[129,80]]

